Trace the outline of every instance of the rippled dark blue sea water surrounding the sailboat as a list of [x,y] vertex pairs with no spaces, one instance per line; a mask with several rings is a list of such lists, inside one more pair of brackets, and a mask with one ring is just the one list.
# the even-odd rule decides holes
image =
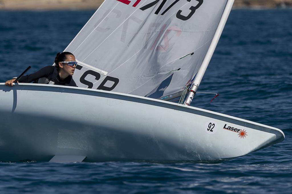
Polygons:
[[[53,63],[94,11],[0,11],[0,82]],[[292,10],[232,10],[192,106],[286,139],[210,163],[0,163],[0,193],[292,193]],[[1,134],[0,134],[1,135]]]

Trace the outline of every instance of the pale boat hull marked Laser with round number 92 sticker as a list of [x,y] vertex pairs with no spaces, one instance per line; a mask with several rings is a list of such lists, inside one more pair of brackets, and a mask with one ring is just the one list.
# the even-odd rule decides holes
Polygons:
[[0,161],[74,155],[88,162],[213,162],[283,140],[277,128],[151,98],[0,84]]

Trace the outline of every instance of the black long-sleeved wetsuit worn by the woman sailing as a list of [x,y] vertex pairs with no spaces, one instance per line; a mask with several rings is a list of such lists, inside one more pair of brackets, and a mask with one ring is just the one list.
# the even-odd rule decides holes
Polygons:
[[[22,76],[18,82],[20,83],[30,83],[38,80],[39,78],[46,77],[48,79],[51,79],[53,72],[55,70],[55,66],[46,66],[41,68],[35,73],[32,73],[30,75],[24,75]],[[74,82],[72,75],[69,75],[65,78],[65,80],[61,80],[59,73],[57,74],[57,77],[55,79],[54,85],[63,85],[63,86],[73,86],[77,87],[76,83]]]

